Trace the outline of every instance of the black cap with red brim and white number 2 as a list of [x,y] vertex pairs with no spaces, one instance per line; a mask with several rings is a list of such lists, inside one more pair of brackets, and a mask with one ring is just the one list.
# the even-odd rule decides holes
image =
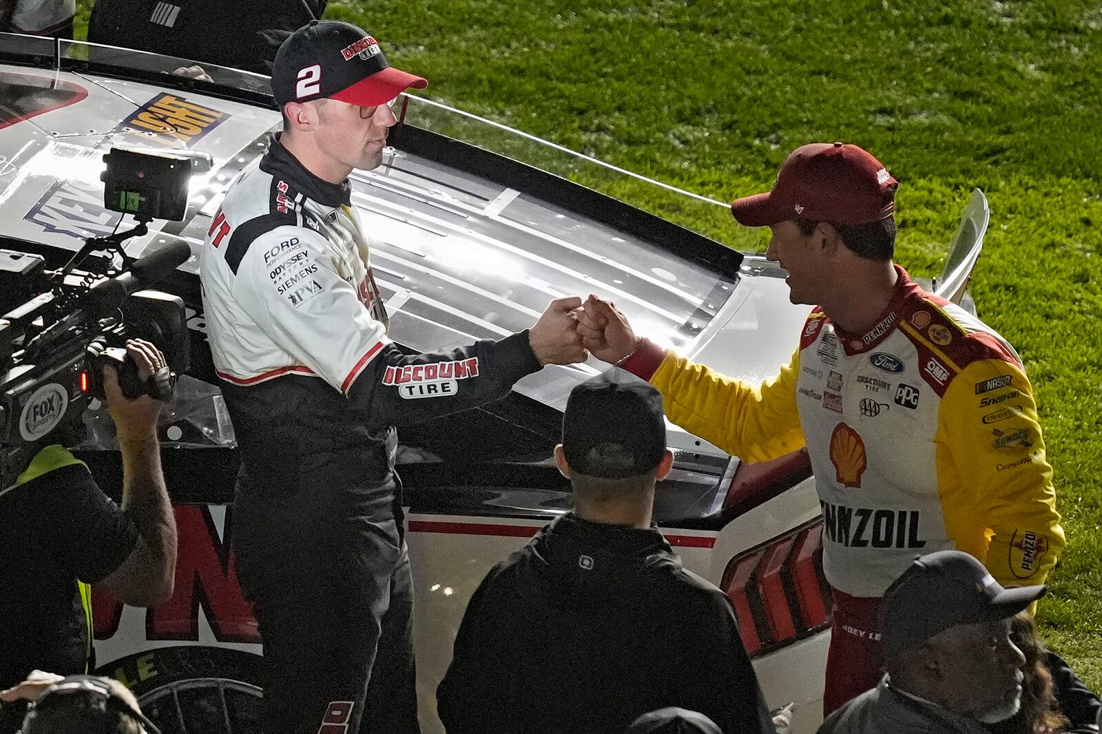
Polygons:
[[280,108],[326,97],[371,107],[428,86],[388,64],[370,33],[344,21],[310,21],[283,42],[272,66],[272,95]]

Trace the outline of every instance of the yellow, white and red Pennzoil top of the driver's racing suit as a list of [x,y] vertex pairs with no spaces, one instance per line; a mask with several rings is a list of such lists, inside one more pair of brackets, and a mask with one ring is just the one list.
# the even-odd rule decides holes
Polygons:
[[966,551],[1022,586],[1045,580],[1065,542],[1018,355],[897,270],[893,302],[867,333],[847,334],[817,307],[791,363],[759,386],[647,341],[624,365],[661,390],[671,421],[746,462],[807,446],[823,571],[839,607],[857,597],[865,618],[853,626],[873,643],[878,597],[916,555]]

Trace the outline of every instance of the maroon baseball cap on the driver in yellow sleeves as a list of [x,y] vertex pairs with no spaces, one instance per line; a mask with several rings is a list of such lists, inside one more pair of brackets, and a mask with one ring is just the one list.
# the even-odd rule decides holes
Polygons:
[[847,143],[797,148],[780,166],[773,191],[736,198],[738,224],[764,227],[796,217],[838,225],[879,222],[895,212],[899,183],[865,150]]

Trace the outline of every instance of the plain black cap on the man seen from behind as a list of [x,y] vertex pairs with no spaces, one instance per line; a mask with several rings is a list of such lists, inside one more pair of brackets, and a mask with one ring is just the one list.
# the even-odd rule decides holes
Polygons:
[[[601,444],[622,446],[635,462],[619,471],[592,466],[590,451]],[[662,393],[618,368],[582,382],[566,400],[562,450],[579,474],[623,479],[653,472],[666,453]]]

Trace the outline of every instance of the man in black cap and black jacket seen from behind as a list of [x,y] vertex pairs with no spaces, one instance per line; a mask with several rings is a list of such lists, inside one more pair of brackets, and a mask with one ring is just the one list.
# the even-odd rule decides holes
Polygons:
[[663,706],[771,732],[731,601],[651,521],[673,462],[658,391],[623,370],[577,386],[554,455],[574,511],[472,596],[436,692],[449,734],[622,734]]

